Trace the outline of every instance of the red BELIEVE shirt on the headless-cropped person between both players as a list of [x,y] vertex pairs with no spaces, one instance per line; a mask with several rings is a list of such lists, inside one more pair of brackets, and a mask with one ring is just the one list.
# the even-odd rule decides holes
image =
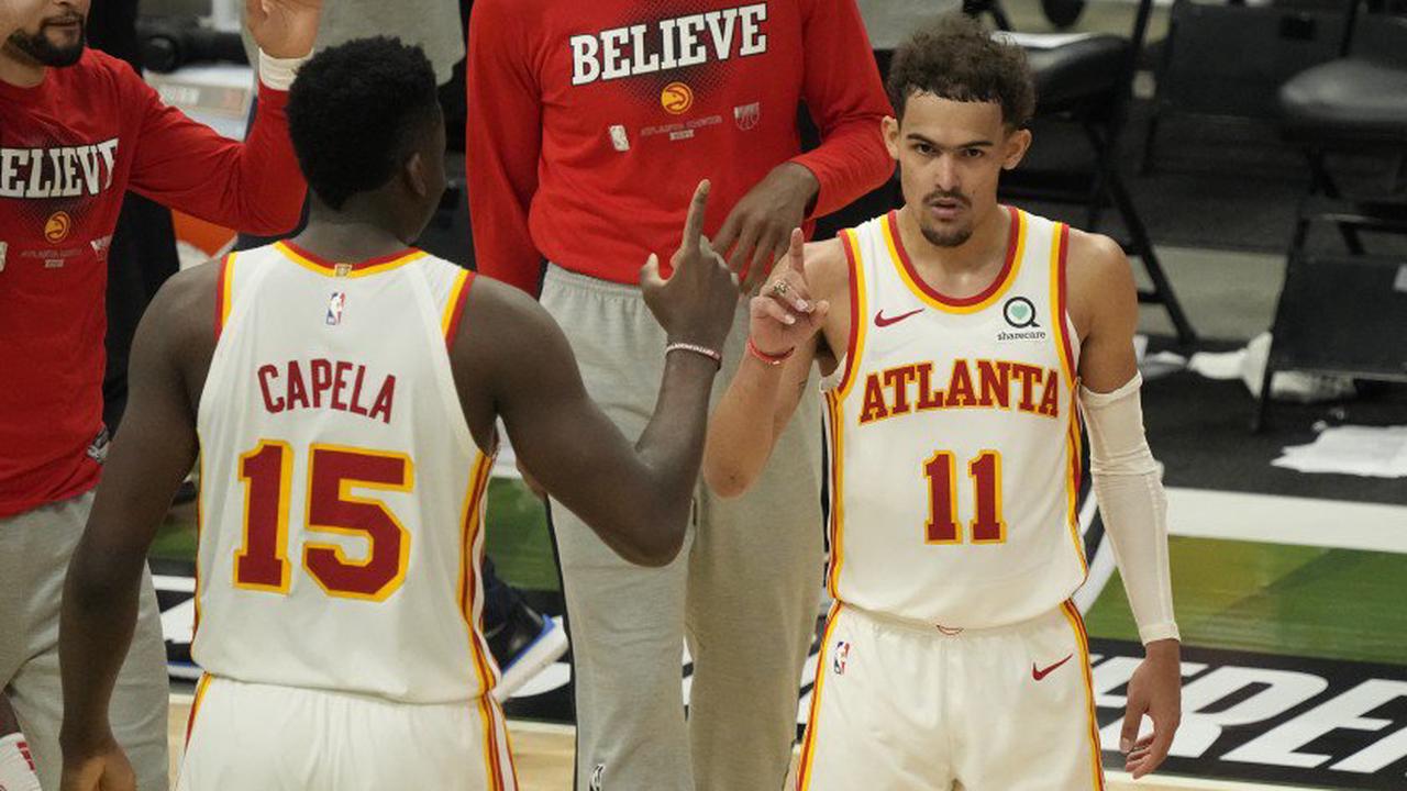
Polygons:
[[[478,0],[469,42],[469,201],[478,270],[535,293],[542,259],[635,283],[792,160],[812,215],[884,183],[891,114],[854,0]],[[801,153],[805,101],[822,145]]]

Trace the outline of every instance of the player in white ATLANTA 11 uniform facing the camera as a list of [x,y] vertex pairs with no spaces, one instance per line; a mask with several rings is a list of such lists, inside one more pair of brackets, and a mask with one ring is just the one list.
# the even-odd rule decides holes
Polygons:
[[1178,728],[1179,643],[1128,262],[1104,236],[998,204],[1031,141],[1019,48],[947,18],[895,53],[888,87],[905,205],[805,253],[794,234],[751,303],[705,462],[716,491],[746,490],[812,363],[830,372],[837,604],[798,788],[1103,788],[1069,601],[1086,573],[1081,415],[1147,650],[1121,740],[1144,776]]

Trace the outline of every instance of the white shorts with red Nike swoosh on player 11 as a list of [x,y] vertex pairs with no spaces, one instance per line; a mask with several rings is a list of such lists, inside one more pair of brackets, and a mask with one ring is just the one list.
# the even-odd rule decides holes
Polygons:
[[940,631],[836,605],[798,791],[1104,788],[1085,625],[1074,604]]

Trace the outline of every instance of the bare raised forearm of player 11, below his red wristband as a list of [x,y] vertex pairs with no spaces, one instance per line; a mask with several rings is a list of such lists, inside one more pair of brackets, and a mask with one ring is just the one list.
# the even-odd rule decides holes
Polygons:
[[744,355],[709,421],[704,479],[722,497],[747,491],[772,453],[772,419],[785,366]]

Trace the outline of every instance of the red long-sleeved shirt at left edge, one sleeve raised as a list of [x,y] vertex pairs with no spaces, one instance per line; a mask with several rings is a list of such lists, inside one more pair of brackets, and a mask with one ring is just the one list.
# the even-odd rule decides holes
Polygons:
[[98,479],[107,251],[135,193],[256,234],[298,221],[305,184],[287,93],[260,87],[245,145],[162,104],[87,51],[21,89],[0,82],[0,518]]

